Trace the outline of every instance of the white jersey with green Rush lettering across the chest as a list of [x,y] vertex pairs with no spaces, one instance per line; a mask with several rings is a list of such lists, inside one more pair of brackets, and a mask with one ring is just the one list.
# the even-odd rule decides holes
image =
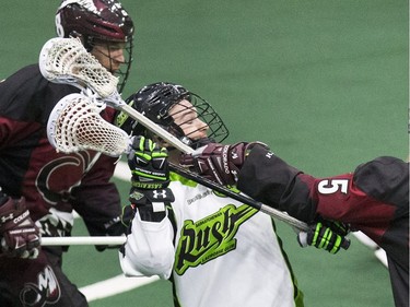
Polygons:
[[172,179],[168,219],[143,222],[136,214],[120,255],[126,275],[172,276],[183,307],[303,306],[269,215]]

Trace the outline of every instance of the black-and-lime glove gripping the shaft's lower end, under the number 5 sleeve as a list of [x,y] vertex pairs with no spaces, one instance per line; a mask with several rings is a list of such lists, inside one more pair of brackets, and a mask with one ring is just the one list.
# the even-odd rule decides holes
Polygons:
[[337,253],[340,248],[348,249],[350,240],[345,237],[349,226],[340,222],[321,221],[311,225],[307,232],[297,235],[297,241],[302,247],[315,246],[330,253]]

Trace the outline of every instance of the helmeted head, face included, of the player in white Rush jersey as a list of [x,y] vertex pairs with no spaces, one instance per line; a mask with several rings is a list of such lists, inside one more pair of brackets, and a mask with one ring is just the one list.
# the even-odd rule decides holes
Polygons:
[[[208,141],[222,142],[229,135],[227,128],[212,106],[177,84],[159,82],[147,85],[131,95],[127,103],[192,147],[197,147],[198,143],[203,144],[204,139],[198,139],[196,135],[203,135],[204,130]],[[197,126],[192,126],[194,121]],[[122,117],[122,122],[117,125],[130,134],[150,134],[143,126],[136,123],[131,118]],[[187,132],[186,127],[191,129]]]

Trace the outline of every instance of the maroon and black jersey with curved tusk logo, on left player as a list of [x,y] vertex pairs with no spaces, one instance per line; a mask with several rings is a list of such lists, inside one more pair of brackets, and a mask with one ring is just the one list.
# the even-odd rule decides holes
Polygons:
[[[12,197],[24,196],[33,220],[50,208],[75,209],[89,228],[98,228],[120,214],[118,192],[109,182],[116,158],[93,151],[57,153],[46,133],[54,106],[74,92],[44,79],[38,64],[0,83],[0,187]],[[102,116],[112,121],[114,114],[106,108]]]

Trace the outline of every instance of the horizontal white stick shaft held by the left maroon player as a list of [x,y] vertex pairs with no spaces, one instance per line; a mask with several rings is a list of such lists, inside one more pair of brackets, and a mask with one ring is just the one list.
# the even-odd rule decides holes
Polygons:
[[66,245],[122,245],[127,238],[118,237],[42,237],[42,246]]

